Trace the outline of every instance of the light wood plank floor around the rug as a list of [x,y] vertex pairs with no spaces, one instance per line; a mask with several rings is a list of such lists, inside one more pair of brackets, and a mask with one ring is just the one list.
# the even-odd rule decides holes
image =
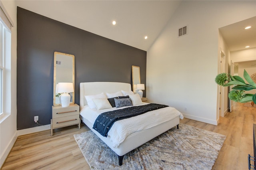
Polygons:
[[[206,111],[207,112],[207,111]],[[220,117],[218,126],[183,119],[181,123],[226,135],[213,170],[247,170],[247,156],[253,156],[253,123],[256,108],[235,103],[234,111]],[[89,130],[76,125],[19,136],[2,170],[90,170],[74,134]],[[207,153],[206,153],[207,154]]]

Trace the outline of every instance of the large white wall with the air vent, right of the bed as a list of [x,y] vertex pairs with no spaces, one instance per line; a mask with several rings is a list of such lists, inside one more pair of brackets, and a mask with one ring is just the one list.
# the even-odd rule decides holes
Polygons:
[[[147,97],[216,125],[218,28],[255,16],[255,1],[184,1],[147,52]],[[188,35],[177,37],[188,26]]]

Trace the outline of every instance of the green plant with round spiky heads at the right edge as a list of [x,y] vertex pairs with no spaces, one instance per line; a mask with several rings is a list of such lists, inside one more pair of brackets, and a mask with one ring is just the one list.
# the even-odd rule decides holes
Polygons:
[[[244,79],[249,84],[247,84]],[[223,87],[235,85],[232,87],[233,90],[228,93],[230,100],[240,103],[253,101],[256,104],[256,93],[244,93],[245,91],[256,89],[256,83],[252,80],[246,70],[244,70],[244,79],[238,75],[232,76],[227,73],[220,73],[216,76],[215,82]]]

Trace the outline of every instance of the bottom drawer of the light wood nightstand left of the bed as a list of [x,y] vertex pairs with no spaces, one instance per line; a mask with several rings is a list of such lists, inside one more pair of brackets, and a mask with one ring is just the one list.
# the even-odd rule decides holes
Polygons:
[[56,119],[52,119],[53,128],[65,127],[70,125],[76,125],[80,121],[79,115],[72,115],[66,117],[60,117]]

